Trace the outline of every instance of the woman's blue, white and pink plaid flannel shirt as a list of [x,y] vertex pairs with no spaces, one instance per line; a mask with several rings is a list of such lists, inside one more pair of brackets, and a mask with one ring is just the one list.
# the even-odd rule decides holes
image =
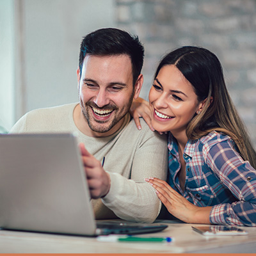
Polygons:
[[186,182],[180,188],[177,141],[169,136],[168,183],[189,202],[212,206],[210,222],[256,226],[256,170],[236,151],[229,136],[210,132],[189,140],[184,150]]

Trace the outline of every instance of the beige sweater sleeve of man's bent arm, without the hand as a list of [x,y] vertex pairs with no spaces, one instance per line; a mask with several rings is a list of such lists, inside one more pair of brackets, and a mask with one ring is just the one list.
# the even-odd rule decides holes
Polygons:
[[[157,132],[150,131],[143,120],[141,124],[143,128],[138,132],[145,132],[145,136],[140,138],[140,145],[136,146],[131,177],[126,179],[118,173],[109,173],[111,187],[108,195],[102,198],[102,202],[119,218],[150,223],[156,220],[161,209],[161,201],[155,189],[145,182],[145,178],[158,177],[166,180],[167,141],[165,135],[160,136]],[[132,131],[135,129],[134,124]]]

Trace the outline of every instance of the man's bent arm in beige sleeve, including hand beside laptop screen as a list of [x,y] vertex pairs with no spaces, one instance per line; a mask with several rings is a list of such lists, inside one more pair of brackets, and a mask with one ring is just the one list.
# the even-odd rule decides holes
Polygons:
[[156,220],[161,202],[145,178],[166,179],[167,147],[165,136],[160,138],[145,126],[143,129],[148,131],[143,131],[145,135],[140,138],[140,145],[133,147],[136,152],[132,159],[131,179],[120,173],[104,171],[100,161],[84,146],[81,152],[92,198],[102,198],[102,202],[119,218],[150,223]]

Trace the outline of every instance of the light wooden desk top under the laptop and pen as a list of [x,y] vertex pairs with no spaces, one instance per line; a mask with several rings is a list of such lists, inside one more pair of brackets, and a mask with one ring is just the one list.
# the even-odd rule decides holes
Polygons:
[[[99,242],[95,237],[0,230],[0,253],[255,253],[256,228],[246,236],[205,237],[191,224],[175,221],[163,232],[143,236],[174,238],[172,243]],[[141,235],[142,236],[142,235]]]

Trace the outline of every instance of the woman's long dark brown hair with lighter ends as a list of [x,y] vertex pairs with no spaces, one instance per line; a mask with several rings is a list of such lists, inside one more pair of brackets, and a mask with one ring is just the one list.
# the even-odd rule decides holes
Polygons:
[[232,138],[239,154],[256,168],[256,152],[228,94],[221,63],[211,51],[185,46],[164,56],[155,77],[165,65],[175,65],[192,84],[198,101],[206,99],[200,115],[193,117],[186,129],[190,140],[197,140],[211,131],[222,132]]

